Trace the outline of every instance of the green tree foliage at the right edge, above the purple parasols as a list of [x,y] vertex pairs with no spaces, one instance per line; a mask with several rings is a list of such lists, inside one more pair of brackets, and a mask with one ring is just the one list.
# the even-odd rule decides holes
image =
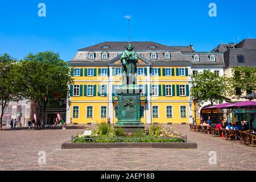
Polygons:
[[256,67],[233,67],[229,84],[231,85],[230,96],[241,96],[245,92],[246,94],[255,92]]

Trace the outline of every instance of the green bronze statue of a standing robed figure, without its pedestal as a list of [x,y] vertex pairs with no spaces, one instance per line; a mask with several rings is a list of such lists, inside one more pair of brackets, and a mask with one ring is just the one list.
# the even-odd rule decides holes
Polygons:
[[133,45],[128,44],[126,46],[127,51],[123,52],[121,56],[122,62],[122,82],[123,85],[133,84],[136,85],[136,73],[138,58],[133,51]]

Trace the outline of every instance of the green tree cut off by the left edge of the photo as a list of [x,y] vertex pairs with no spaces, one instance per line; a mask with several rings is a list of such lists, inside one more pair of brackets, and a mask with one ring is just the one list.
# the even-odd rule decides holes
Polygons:
[[10,101],[18,102],[21,97],[19,96],[19,81],[18,63],[16,60],[7,53],[0,55],[0,106],[1,106],[1,128],[3,121],[3,111],[8,106]]

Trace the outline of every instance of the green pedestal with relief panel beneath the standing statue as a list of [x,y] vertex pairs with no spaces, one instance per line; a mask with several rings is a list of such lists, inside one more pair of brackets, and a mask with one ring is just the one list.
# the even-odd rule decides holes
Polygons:
[[141,98],[137,85],[122,86],[118,92],[117,126],[144,128],[141,122]]

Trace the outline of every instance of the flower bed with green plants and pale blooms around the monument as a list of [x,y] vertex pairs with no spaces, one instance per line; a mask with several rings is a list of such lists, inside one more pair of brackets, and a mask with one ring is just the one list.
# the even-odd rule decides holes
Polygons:
[[144,130],[138,129],[131,135],[125,134],[121,127],[114,127],[107,123],[93,126],[92,133],[88,135],[77,134],[72,137],[72,143],[160,143],[160,142],[186,142],[186,138],[177,134],[167,125],[152,125]]

